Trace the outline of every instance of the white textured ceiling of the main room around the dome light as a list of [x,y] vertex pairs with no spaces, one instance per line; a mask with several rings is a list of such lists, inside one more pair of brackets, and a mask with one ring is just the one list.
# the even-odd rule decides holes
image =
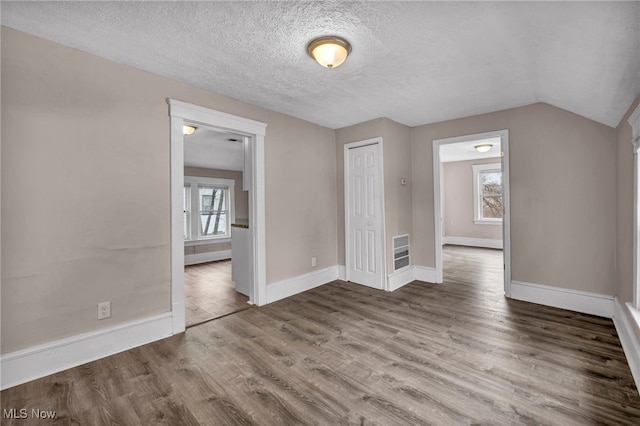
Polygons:
[[[7,2],[2,24],[331,128],[546,102],[616,126],[640,2]],[[306,53],[338,34],[337,69]]]

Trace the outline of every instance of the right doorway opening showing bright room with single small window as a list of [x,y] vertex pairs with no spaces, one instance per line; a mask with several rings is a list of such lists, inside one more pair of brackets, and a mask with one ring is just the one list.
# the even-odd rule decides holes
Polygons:
[[491,280],[511,296],[508,143],[507,130],[433,141],[436,282]]

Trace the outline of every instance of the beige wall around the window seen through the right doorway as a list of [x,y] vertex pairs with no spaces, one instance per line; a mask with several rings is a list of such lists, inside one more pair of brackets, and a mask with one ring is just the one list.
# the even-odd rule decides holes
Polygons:
[[473,222],[473,166],[499,163],[500,158],[442,163],[442,230],[447,237],[502,240],[500,224]]

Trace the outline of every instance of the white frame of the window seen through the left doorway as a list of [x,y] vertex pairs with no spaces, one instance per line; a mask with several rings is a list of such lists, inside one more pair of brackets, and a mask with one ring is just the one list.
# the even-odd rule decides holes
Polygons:
[[[235,222],[235,180],[233,179],[219,179],[219,178],[206,178],[197,176],[185,176],[184,187],[189,188],[189,211],[188,217],[188,230],[189,238],[185,239],[186,245],[197,245],[207,242],[217,241],[231,241],[231,224]],[[200,227],[200,195],[199,188],[202,186],[215,186],[218,188],[224,188],[228,191],[228,217],[227,217],[227,229],[225,235],[202,235]]]

